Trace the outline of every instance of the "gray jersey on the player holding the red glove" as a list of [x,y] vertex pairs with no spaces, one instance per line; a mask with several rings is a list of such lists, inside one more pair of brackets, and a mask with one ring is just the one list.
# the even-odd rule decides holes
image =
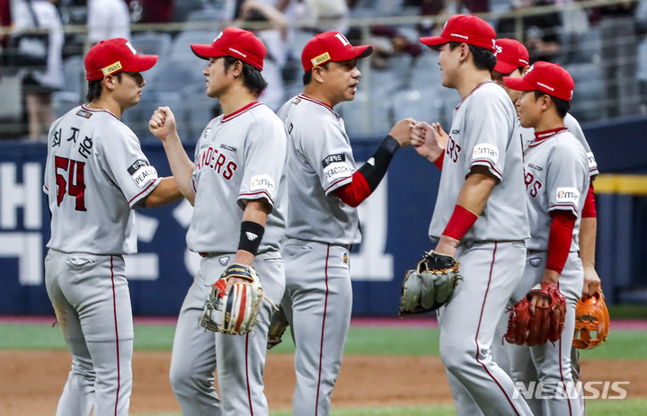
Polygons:
[[589,190],[589,158],[584,147],[568,130],[538,135],[524,153],[527,211],[531,238],[529,250],[547,251],[548,235],[555,209],[571,211],[576,217],[571,251],[579,250],[581,209]]

